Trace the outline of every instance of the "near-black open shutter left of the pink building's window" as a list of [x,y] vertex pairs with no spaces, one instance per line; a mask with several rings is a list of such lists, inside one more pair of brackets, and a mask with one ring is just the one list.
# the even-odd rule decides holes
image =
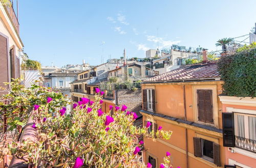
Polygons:
[[234,115],[222,113],[223,146],[234,147]]

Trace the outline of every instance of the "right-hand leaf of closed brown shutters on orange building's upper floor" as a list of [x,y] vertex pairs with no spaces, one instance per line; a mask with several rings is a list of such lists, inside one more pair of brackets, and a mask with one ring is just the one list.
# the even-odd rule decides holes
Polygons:
[[214,123],[212,114],[212,90],[204,90],[204,108],[205,108],[205,122]]

